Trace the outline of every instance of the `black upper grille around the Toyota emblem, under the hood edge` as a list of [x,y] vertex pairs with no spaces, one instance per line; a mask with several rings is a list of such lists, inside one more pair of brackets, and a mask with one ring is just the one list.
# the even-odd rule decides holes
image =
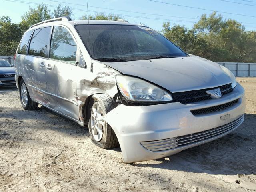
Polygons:
[[215,87],[215,88],[209,88],[204,90],[196,90],[196,91],[186,91],[186,92],[178,92],[173,93],[172,96],[177,102],[180,102],[182,104],[188,104],[193,102],[199,102],[203,100],[209,100],[212,99],[210,97],[210,94],[207,94],[207,90],[217,89],[220,88],[221,94],[225,95],[233,91],[231,83],[226,84],[223,86]]

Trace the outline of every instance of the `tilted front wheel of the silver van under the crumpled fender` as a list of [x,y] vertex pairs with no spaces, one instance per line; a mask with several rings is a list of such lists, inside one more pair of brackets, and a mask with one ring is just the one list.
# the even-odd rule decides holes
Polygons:
[[118,139],[111,126],[101,119],[116,107],[114,99],[106,94],[95,94],[90,106],[89,130],[92,142],[97,146],[108,149],[118,147]]

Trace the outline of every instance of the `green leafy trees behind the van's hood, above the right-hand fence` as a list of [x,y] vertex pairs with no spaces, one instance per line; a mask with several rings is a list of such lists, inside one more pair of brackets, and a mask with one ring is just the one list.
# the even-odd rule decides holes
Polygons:
[[224,20],[216,12],[203,14],[191,30],[166,22],[162,33],[185,52],[212,61],[256,62],[256,32],[245,31],[236,20]]

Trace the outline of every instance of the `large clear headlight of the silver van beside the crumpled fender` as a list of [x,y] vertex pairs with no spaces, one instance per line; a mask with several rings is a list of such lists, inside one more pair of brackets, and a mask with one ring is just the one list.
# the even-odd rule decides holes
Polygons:
[[172,101],[172,96],[168,92],[139,78],[117,75],[116,82],[120,92],[128,100],[141,102]]

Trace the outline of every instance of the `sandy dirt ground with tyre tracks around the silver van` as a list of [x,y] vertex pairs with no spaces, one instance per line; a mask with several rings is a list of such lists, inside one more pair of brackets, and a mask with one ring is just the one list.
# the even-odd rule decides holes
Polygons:
[[101,149],[88,128],[40,107],[22,109],[16,88],[0,88],[0,192],[256,191],[256,78],[244,123],[231,134],[179,154],[124,164],[120,148]]

